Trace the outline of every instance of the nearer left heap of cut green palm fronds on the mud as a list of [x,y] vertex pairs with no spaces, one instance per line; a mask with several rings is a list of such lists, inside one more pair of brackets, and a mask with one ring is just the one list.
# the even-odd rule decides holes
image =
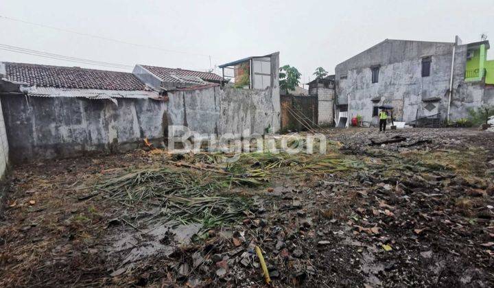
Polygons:
[[[232,184],[262,185],[261,175],[254,170],[244,174],[204,174],[193,169],[148,168],[110,176],[96,188],[126,206],[143,210],[147,206],[159,206],[161,209],[152,219],[174,224],[200,223],[207,229],[235,223],[248,211],[248,200],[234,195],[220,196],[217,192]],[[137,215],[129,218],[136,219]]]

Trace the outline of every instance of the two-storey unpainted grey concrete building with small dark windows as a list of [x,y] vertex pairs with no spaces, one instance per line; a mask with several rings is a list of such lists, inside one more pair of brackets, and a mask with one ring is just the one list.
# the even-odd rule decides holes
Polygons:
[[[469,108],[494,104],[486,82],[494,71],[479,68],[486,49],[487,41],[462,45],[458,37],[455,43],[386,39],[336,66],[337,111],[374,124],[382,105],[393,106],[394,118],[407,123],[467,117]],[[481,51],[483,61],[471,56]],[[467,72],[469,62],[476,75]]]

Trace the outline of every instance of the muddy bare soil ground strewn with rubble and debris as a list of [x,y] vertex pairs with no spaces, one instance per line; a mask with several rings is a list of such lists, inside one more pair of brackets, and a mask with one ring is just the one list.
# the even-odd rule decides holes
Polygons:
[[[226,186],[215,177],[233,172],[214,159],[157,149],[17,165],[3,187],[0,286],[266,286],[255,245],[274,287],[494,286],[494,133],[327,136],[327,162],[259,160]],[[159,174],[121,184],[135,169]],[[189,191],[193,179],[208,188]],[[150,194],[170,182],[190,193]]]

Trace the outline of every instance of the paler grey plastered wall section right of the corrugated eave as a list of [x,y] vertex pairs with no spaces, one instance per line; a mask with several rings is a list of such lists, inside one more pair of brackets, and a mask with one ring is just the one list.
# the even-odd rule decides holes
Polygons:
[[265,134],[280,129],[279,96],[272,89],[250,90],[213,86],[168,93],[173,125],[200,134]]

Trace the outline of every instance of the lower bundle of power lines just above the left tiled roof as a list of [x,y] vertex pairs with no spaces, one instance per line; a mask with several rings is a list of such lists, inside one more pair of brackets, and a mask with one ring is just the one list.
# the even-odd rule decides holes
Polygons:
[[32,49],[26,49],[26,48],[22,48],[22,47],[16,47],[16,46],[5,45],[5,44],[0,44],[0,49],[5,50],[5,51],[15,52],[15,53],[23,53],[23,54],[27,54],[27,55],[44,57],[44,58],[51,58],[51,59],[62,60],[62,61],[67,61],[67,62],[76,62],[76,63],[81,63],[81,64],[90,64],[90,65],[97,65],[97,66],[102,66],[102,67],[110,67],[110,68],[118,68],[118,69],[132,69],[133,68],[133,66],[126,65],[126,64],[117,64],[117,63],[111,63],[111,62],[102,62],[102,61],[90,60],[90,59],[85,59],[85,58],[63,56],[60,54],[48,53],[48,52],[32,50]]

